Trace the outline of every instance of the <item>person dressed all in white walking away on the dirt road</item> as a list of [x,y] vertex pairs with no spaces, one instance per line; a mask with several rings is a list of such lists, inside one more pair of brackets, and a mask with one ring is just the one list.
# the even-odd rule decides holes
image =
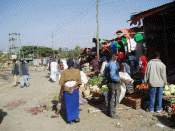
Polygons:
[[52,82],[56,81],[56,74],[57,74],[57,69],[58,69],[58,64],[55,62],[55,59],[50,64],[51,67],[51,80]]

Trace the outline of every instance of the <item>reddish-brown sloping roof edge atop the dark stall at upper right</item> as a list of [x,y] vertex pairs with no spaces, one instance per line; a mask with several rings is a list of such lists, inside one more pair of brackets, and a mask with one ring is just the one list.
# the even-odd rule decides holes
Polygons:
[[170,7],[171,4],[175,4],[175,2],[171,2],[171,3],[168,3],[168,4],[165,4],[165,5],[162,5],[162,6],[159,6],[159,7],[156,7],[156,8],[153,8],[153,9],[150,9],[150,10],[144,11],[142,13],[131,16],[131,19],[129,20],[129,21],[131,21],[130,25],[132,25],[132,24],[136,25],[137,22],[140,23],[140,19],[143,19],[147,16],[153,15],[157,12],[161,12],[161,11],[167,9],[168,7]]

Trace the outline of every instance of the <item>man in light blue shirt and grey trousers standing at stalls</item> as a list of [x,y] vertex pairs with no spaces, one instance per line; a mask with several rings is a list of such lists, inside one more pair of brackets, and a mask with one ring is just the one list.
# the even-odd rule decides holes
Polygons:
[[123,81],[123,79],[119,77],[119,67],[115,63],[117,59],[116,53],[111,52],[110,59],[103,72],[104,76],[107,78],[107,85],[109,88],[108,115],[113,119],[120,119],[120,117],[116,115],[116,107],[119,103],[120,81]]

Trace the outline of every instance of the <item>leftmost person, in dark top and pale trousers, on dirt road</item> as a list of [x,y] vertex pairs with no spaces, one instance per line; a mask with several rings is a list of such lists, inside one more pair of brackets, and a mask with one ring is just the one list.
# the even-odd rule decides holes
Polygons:
[[19,75],[19,66],[16,63],[16,60],[13,60],[14,68],[12,70],[12,74],[14,76],[14,87],[18,85],[18,75]]

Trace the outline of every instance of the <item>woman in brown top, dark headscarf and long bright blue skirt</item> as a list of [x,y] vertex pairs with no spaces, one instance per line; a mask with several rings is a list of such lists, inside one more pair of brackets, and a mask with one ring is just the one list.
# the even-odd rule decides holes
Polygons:
[[67,61],[68,69],[63,70],[59,85],[61,86],[61,94],[64,94],[67,121],[79,122],[79,86],[82,84],[80,70],[74,68],[73,60]]

